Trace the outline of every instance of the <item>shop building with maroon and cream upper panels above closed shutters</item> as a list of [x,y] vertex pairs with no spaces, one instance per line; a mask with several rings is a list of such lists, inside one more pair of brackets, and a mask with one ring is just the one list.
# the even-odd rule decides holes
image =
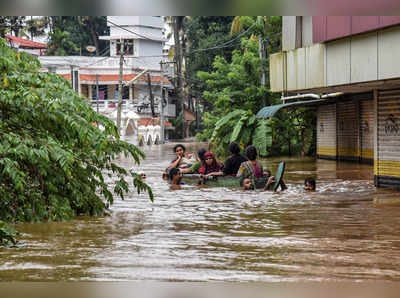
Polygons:
[[283,17],[270,83],[284,101],[326,98],[319,158],[372,163],[377,187],[400,188],[400,17]]

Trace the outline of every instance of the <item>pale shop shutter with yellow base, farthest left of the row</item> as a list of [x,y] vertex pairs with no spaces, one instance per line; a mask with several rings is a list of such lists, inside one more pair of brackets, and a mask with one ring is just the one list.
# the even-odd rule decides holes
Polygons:
[[317,157],[336,159],[336,104],[318,107]]

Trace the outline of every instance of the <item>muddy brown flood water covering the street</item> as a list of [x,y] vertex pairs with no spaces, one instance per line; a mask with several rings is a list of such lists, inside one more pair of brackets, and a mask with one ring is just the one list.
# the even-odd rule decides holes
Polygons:
[[[283,158],[282,193],[172,191],[161,179],[172,147],[145,148],[136,166],[154,203],[132,192],[108,217],[16,225],[20,245],[0,248],[0,280],[400,280],[400,193],[375,190],[372,166]],[[264,164],[274,172],[280,160]],[[302,190],[308,176],[314,193]]]

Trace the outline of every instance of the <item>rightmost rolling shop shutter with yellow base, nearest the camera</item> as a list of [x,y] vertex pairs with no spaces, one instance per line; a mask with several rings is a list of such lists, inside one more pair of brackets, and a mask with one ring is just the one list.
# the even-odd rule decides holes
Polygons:
[[400,89],[378,91],[375,186],[400,188]]

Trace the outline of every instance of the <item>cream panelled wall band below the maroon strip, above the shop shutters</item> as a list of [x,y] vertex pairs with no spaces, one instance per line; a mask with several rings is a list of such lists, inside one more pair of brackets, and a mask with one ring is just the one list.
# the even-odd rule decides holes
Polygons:
[[270,72],[273,92],[398,79],[400,26],[273,54]]

